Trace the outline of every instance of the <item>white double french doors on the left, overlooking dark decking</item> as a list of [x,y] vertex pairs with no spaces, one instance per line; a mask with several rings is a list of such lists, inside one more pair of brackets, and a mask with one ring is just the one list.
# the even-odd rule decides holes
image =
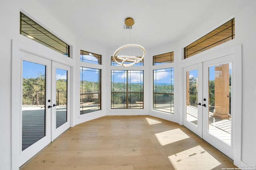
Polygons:
[[27,51],[19,51],[19,57],[21,73],[13,76],[20,80],[13,85],[21,94],[15,102],[20,109],[13,113],[18,131],[13,144],[19,147],[13,148],[21,166],[70,127],[70,66]]

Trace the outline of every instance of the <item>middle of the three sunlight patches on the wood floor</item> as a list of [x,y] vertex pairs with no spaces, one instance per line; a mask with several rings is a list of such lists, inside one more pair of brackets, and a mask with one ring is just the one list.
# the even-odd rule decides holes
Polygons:
[[189,136],[180,129],[156,133],[155,136],[162,146],[189,138]]

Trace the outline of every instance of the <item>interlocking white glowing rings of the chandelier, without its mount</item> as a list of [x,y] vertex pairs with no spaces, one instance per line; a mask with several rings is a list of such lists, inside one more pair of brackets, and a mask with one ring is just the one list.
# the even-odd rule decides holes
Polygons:
[[[119,55],[119,56],[116,56],[116,54],[121,51],[122,49],[125,49],[125,48],[129,48],[129,47],[138,47],[140,49],[142,49],[143,51],[143,55],[142,57],[135,57],[135,56],[127,56],[127,55]],[[124,67],[129,67],[129,66],[132,66],[140,61],[142,61],[145,57],[145,54],[146,54],[146,50],[144,49],[144,47],[142,47],[141,45],[138,45],[138,44],[127,44],[127,45],[123,45],[122,47],[119,47],[115,52],[114,52],[114,55],[113,55],[113,60],[119,64],[119,65],[122,65]],[[116,61],[116,57],[120,60],[122,60],[122,63],[119,63],[118,61]],[[125,64],[126,61],[134,61],[133,63],[130,63],[130,64]]]

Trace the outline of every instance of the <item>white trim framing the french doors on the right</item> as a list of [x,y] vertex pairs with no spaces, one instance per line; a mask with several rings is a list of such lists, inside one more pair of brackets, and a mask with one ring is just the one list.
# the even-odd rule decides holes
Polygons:
[[[179,66],[180,68],[183,68],[185,66],[190,66],[192,64],[201,63],[204,61],[209,61],[212,59],[217,59],[219,57],[224,57],[227,55],[234,54],[234,62],[233,62],[233,74],[235,75],[233,77],[234,82],[236,82],[236,88],[233,90],[236,93],[233,94],[233,110],[236,110],[236,116],[232,117],[232,122],[235,126],[233,126],[233,148],[234,148],[234,164],[236,166],[239,165],[245,165],[244,162],[242,162],[241,152],[242,152],[242,44],[239,45],[232,45],[234,43],[227,42],[222,45],[216,46],[210,50],[206,50],[202,53],[199,53],[193,57],[190,57],[188,59],[184,59],[180,62]],[[180,76],[183,75],[179,74]],[[183,82],[183,81],[182,81]],[[234,84],[234,83],[233,83]],[[183,88],[182,88],[182,91]],[[184,93],[184,92],[183,92]],[[184,96],[184,95],[183,95]],[[182,109],[184,109],[183,106],[183,98],[180,100],[180,103],[182,103]],[[180,114],[180,122],[183,122],[183,114],[184,110],[182,111],[182,114]],[[182,123],[181,123],[182,124]]]

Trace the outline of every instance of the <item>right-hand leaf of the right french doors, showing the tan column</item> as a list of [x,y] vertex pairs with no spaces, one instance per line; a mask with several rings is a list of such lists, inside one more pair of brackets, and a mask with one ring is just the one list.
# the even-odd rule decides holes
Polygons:
[[234,159],[232,145],[232,89],[234,56],[203,63],[203,139]]

